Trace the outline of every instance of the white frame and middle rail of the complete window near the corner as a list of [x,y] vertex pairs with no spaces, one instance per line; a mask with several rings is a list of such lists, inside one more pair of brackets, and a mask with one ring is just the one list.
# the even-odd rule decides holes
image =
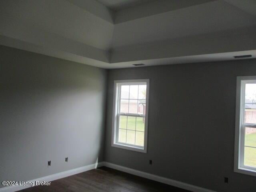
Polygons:
[[[118,134],[118,108],[120,107],[120,104],[118,103],[120,98],[120,85],[124,84],[140,84],[140,83],[146,83],[146,114],[145,114],[145,130],[144,130],[144,146],[137,146],[132,144],[126,144],[126,143],[120,143],[117,140]],[[148,101],[149,101],[149,79],[136,79],[136,80],[116,80],[114,81],[114,99],[113,99],[113,119],[112,119],[112,144],[111,146],[142,152],[147,152],[147,144],[148,144]],[[142,115],[139,114],[127,114],[127,113],[119,113],[124,114],[126,116],[138,116],[142,117]]]

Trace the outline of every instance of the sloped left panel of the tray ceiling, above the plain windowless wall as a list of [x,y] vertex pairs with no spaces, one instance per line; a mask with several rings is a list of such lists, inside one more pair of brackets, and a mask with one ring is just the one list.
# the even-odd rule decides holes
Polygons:
[[[114,25],[65,0],[2,0],[1,29],[24,25],[95,48],[108,50]],[[10,26],[12,25],[12,26]]]

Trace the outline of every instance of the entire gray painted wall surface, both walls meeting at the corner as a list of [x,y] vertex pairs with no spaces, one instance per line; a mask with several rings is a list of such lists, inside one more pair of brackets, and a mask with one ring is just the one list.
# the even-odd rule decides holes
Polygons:
[[[218,192],[256,190],[255,177],[233,172],[236,76],[256,75],[256,60],[110,70],[104,153],[106,70],[5,46],[0,55],[0,180],[98,159]],[[150,78],[147,154],[111,147],[113,82],[135,78]]]

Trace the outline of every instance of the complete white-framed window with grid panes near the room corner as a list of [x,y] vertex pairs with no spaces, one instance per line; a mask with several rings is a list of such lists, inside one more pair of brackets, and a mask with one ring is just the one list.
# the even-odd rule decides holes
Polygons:
[[112,146],[146,153],[149,80],[114,82]]

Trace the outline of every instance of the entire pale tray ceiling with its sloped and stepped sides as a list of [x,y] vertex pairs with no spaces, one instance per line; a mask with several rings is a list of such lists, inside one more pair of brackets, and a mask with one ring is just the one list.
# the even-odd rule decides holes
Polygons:
[[102,68],[255,56],[255,0],[98,1],[1,0],[0,44]]

